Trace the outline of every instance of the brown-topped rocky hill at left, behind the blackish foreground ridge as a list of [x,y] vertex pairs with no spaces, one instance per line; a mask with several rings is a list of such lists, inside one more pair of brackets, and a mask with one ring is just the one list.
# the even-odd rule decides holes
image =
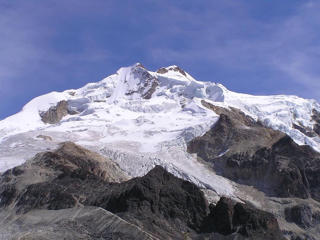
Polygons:
[[[26,199],[27,203],[31,203],[33,200],[31,200],[31,198],[27,199],[28,190],[29,192],[33,190],[39,191],[40,194],[42,194],[46,188],[50,188],[47,186],[49,185],[48,181],[57,179],[63,172],[73,172],[76,174],[77,172],[83,171],[97,178],[108,180],[109,182],[122,182],[130,179],[130,177],[110,159],[103,158],[74,143],[64,142],[60,148],[52,152],[39,153],[32,160],[4,172],[1,177],[0,207],[9,206],[17,200],[19,200],[18,206],[22,206],[23,199]],[[46,187],[42,188],[42,185]],[[56,189],[58,191],[56,192],[57,198],[63,196],[63,193],[71,196],[68,191],[61,186],[57,186]],[[60,193],[59,191],[62,189],[64,190]],[[27,192],[27,194],[19,196],[21,191]],[[48,191],[50,191],[50,189]],[[40,207],[44,201],[49,200],[54,201],[50,197],[45,196],[45,194],[44,200],[40,200],[35,196],[34,204]],[[76,203],[74,204],[77,205]],[[69,205],[71,206],[71,203],[69,203]],[[24,208],[23,211],[28,211],[28,206]]]

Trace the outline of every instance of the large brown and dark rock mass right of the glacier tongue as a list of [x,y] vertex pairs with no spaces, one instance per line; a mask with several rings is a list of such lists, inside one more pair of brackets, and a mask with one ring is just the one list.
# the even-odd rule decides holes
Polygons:
[[189,143],[190,153],[211,162],[218,174],[270,196],[320,201],[318,152],[282,132],[255,125],[234,109],[214,108],[220,113],[218,122]]

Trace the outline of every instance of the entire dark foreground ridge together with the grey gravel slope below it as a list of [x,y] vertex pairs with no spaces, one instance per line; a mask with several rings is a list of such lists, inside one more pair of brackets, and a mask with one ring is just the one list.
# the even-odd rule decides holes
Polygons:
[[[67,231],[68,239],[160,240],[212,234],[215,239],[229,234],[284,239],[276,218],[268,212],[235,204],[226,197],[216,205],[209,204],[200,188],[159,165],[145,176],[129,180],[110,159],[101,159],[71,142],[7,170],[0,180],[1,226],[10,222],[9,226],[16,228],[8,238],[65,239]],[[76,213],[66,212],[70,208]],[[60,211],[59,221],[56,211]],[[40,223],[30,223],[44,214]],[[99,221],[101,215],[102,222],[112,228]],[[120,223],[113,222],[115,216]],[[57,228],[54,231],[48,228],[52,222]],[[75,223],[78,231],[70,227]],[[26,234],[19,231],[20,225],[28,226]],[[128,227],[130,231],[124,229]]]

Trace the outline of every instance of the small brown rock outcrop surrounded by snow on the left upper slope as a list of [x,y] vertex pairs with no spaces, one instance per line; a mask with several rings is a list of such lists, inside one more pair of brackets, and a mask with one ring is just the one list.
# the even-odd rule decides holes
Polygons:
[[39,112],[39,115],[44,123],[59,123],[64,116],[68,115],[68,103],[66,100],[62,100],[58,102],[56,106],[49,108],[46,112]]

